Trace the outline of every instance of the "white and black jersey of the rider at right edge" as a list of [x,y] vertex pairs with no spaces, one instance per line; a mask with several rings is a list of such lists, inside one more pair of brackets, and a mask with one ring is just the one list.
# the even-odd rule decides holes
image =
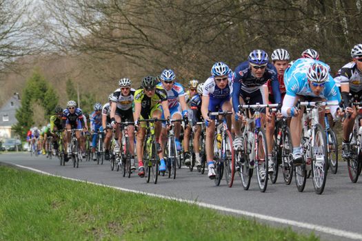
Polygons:
[[362,72],[357,68],[356,63],[350,62],[338,71],[334,77],[337,86],[349,83],[350,92],[360,92],[362,90]]

